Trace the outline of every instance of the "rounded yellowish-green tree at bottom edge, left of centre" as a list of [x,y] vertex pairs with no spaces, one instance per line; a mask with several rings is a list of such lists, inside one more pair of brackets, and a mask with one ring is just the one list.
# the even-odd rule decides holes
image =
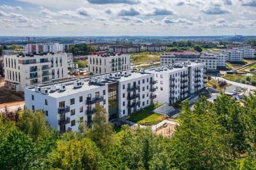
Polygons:
[[58,141],[57,148],[49,156],[50,168],[100,169],[103,157],[90,139]]

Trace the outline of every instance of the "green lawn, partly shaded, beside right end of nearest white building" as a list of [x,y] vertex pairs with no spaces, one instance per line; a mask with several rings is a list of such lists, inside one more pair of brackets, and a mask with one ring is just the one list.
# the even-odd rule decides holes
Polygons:
[[157,107],[161,106],[161,104],[155,104],[154,106],[149,106],[142,111],[136,112],[128,118],[129,121],[139,123],[139,124],[145,124],[145,123],[151,123],[151,124],[157,124],[165,119],[164,115],[153,113],[153,110]]

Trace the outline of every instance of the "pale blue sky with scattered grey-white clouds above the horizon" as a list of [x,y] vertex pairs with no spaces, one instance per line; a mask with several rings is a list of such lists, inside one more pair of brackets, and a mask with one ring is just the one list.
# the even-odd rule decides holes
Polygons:
[[256,0],[0,0],[1,36],[256,35]]

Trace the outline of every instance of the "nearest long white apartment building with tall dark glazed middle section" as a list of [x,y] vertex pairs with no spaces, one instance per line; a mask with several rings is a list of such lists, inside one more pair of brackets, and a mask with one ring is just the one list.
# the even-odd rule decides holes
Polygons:
[[25,89],[28,108],[43,109],[46,120],[60,132],[77,131],[79,122],[92,123],[95,104],[109,120],[127,116],[153,104],[154,75],[118,71]]

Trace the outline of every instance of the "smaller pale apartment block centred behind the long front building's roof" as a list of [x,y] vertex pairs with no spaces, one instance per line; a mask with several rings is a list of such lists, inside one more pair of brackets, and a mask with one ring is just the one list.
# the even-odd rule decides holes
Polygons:
[[102,74],[118,70],[130,70],[129,54],[102,54],[88,56],[89,72]]

